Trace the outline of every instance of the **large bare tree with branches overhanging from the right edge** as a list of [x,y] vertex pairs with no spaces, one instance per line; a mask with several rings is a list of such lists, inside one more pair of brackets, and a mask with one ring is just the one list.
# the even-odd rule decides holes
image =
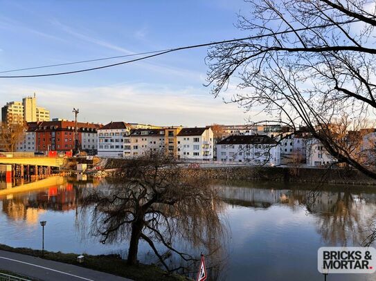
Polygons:
[[359,130],[363,120],[375,117],[376,3],[247,2],[251,12],[239,15],[238,28],[249,39],[208,51],[213,95],[235,84],[233,102],[265,111],[269,121],[289,126],[292,133],[305,126],[338,163],[376,179],[375,168],[348,151],[344,138],[338,142],[339,129],[333,126],[346,115],[346,129]]

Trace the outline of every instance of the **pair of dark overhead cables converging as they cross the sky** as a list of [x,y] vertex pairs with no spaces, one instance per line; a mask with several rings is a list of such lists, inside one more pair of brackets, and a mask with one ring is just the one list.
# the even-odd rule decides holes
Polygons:
[[[143,52],[143,53],[138,53],[138,54],[132,54],[132,55],[124,55],[124,56],[118,56],[118,57],[129,57],[129,56],[136,56],[136,55],[146,55],[146,54],[152,54],[152,55],[147,55],[145,57],[139,57],[137,59],[131,59],[129,61],[121,61],[116,64],[108,64],[105,66],[97,66],[93,68],[84,68],[81,70],[73,70],[73,71],[66,71],[66,72],[54,72],[54,73],[46,73],[46,74],[39,74],[39,75],[17,75],[17,76],[0,76],[0,78],[31,78],[31,77],[48,77],[48,76],[57,76],[57,75],[68,75],[68,74],[74,74],[74,73],[80,73],[80,72],[87,72],[91,70],[98,70],[98,69],[103,69],[103,68],[110,68],[113,66],[120,66],[122,64],[130,64],[135,61],[141,61],[143,59],[149,59],[151,57],[157,57],[160,55],[167,54],[169,52],[176,52],[178,50],[187,50],[187,49],[192,49],[192,48],[200,48],[200,47],[205,47],[205,46],[213,46],[213,45],[219,45],[222,43],[231,43],[235,41],[243,41],[243,40],[251,40],[251,39],[260,39],[263,37],[271,37],[271,36],[276,36],[276,35],[282,35],[282,34],[287,34],[287,33],[292,33],[292,32],[298,32],[298,31],[305,31],[305,30],[310,30],[313,28],[327,28],[330,26],[338,26],[338,25],[343,25],[347,23],[355,23],[357,21],[360,21],[359,19],[353,19],[349,21],[343,21],[342,23],[327,23],[323,24],[320,26],[313,26],[313,27],[305,27],[305,28],[298,28],[295,30],[284,30],[280,32],[272,32],[264,35],[256,35],[256,36],[251,36],[251,37],[244,37],[244,38],[238,38],[238,39],[230,39],[230,40],[224,40],[224,41],[215,41],[211,43],[202,43],[202,44],[197,44],[197,45],[192,45],[192,46],[184,46],[184,47],[179,47],[179,48],[172,48],[172,49],[165,49],[165,50],[160,50],[160,51],[151,51],[151,52]],[[75,61],[71,63],[66,63],[66,64],[59,64],[59,65],[51,65],[51,66],[37,66],[34,68],[24,68],[24,69],[19,69],[19,70],[29,70],[29,69],[36,69],[36,68],[48,68],[48,67],[53,67],[53,66],[64,66],[64,65],[69,65],[69,64],[81,64],[83,62],[89,62],[89,61],[100,61],[100,60],[105,60],[105,59],[111,59],[111,58],[116,58],[116,57],[107,57],[103,59],[91,59],[88,61]],[[12,72],[12,71],[19,71],[19,70],[7,70],[3,72]],[[0,73],[3,73],[0,72]]]

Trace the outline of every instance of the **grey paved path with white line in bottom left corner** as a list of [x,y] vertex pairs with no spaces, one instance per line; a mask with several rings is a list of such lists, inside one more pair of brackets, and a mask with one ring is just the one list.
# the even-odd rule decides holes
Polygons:
[[0,269],[43,281],[132,281],[73,264],[44,260],[31,255],[0,251]]

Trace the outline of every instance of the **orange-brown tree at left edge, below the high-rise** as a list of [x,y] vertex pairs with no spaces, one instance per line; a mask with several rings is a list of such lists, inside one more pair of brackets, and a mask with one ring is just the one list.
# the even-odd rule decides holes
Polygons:
[[26,130],[24,124],[0,124],[0,148],[3,151],[13,152],[16,150]]

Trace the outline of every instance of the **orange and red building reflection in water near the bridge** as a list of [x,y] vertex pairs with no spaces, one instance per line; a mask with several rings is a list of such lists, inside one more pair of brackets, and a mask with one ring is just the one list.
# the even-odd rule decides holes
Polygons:
[[43,191],[20,193],[10,199],[3,199],[3,212],[12,220],[26,220],[30,224],[46,209],[69,211],[76,209],[80,191],[73,184],[51,186]]

